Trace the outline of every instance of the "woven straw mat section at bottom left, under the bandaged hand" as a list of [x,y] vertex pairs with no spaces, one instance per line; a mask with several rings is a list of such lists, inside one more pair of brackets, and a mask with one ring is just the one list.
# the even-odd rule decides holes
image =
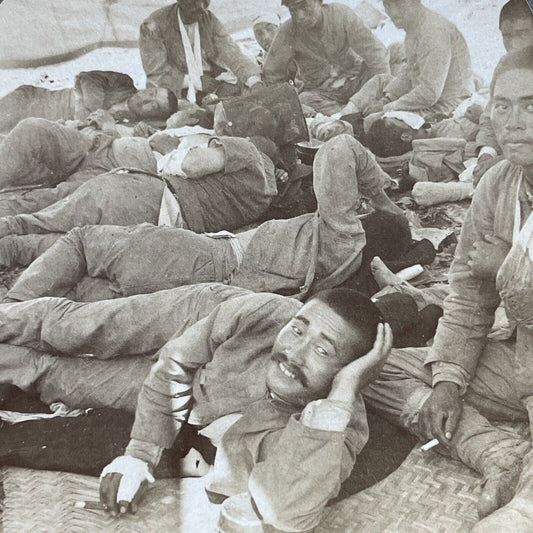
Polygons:
[[3,533],[216,531],[219,506],[207,500],[203,479],[158,480],[137,515],[111,518],[74,507],[76,501],[98,500],[98,478],[14,467],[3,467],[2,477]]

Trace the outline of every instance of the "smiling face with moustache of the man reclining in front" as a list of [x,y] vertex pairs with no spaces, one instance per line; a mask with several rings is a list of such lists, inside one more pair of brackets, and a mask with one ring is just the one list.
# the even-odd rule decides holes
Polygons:
[[279,332],[267,387],[291,403],[326,398],[337,372],[351,362],[360,334],[320,300],[306,303]]

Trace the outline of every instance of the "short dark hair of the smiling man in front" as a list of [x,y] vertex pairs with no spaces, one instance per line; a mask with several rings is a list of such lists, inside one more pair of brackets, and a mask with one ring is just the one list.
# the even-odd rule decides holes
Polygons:
[[313,294],[308,302],[312,300],[325,303],[361,335],[361,342],[354,346],[354,360],[372,349],[383,318],[368,296],[352,289],[328,289]]

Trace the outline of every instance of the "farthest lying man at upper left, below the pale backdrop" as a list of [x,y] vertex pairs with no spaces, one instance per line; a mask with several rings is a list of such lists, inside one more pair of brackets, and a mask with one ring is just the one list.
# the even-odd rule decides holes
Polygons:
[[0,133],[8,133],[25,118],[85,120],[105,109],[117,119],[131,121],[167,119],[177,109],[167,89],[136,89],[133,80],[120,72],[91,71],[76,76],[74,89],[51,91],[22,85],[0,98]]

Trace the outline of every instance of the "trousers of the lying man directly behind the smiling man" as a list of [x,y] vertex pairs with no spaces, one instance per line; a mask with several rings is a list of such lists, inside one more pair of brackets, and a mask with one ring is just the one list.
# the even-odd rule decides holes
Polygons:
[[[229,239],[151,224],[85,226],[74,228],[37,258],[7,296],[65,296],[89,276],[103,280],[105,298],[116,298],[226,281],[236,267]],[[92,299],[91,294],[84,297]],[[96,299],[102,299],[101,292]]]

